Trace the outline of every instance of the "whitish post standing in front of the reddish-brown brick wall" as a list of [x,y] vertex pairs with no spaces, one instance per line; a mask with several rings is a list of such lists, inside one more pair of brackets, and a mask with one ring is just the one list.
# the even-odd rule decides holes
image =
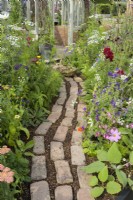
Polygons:
[[68,28],[68,45],[73,43],[73,0],[70,1],[70,16],[69,16],[69,28]]

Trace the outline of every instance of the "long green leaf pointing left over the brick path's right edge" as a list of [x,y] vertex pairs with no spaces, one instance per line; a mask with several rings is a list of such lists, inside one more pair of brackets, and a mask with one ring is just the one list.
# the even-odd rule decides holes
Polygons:
[[104,168],[104,166],[105,166],[105,164],[103,162],[96,161],[96,162],[91,163],[88,166],[85,166],[83,168],[83,170],[86,173],[92,174],[92,173],[95,173],[95,172],[100,172]]

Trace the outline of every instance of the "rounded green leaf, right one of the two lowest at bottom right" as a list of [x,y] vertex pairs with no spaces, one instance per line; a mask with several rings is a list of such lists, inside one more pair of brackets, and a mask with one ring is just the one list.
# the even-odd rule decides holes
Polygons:
[[115,181],[110,181],[107,183],[106,189],[109,194],[117,194],[121,191],[121,185]]

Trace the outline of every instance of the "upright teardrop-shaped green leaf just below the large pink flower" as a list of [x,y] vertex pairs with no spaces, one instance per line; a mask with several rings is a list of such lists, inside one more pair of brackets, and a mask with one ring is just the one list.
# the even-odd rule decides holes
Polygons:
[[108,160],[111,163],[118,164],[121,162],[121,158],[122,158],[121,152],[117,147],[117,143],[114,142],[108,151]]

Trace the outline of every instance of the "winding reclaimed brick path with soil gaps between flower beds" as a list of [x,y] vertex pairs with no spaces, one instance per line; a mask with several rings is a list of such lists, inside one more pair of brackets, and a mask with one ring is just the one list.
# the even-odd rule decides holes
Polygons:
[[[69,94],[66,90],[66,83],[70,86]],[[83,85],[82,79],[79,77],[65,79],[60,88],[59,98],[53,106],[47,122],[43,122],[35,131],[33,149],[35,156],[32,159],[32,183],[30,186],[31,200],[93,200],[88,186],[89,176],[82,170],[86,162],[82,149],[82,133],[77,131],[79,126],[86,125],[84,121],[85,105],[78,100],[79,85],[80,87]],[[76,101],[78,101],[77,104]],[[77,123],[73,129],[74,120]],[[46,147],[45,139],[51,134],[50,128],[55,124],[55,132],[52,133],[49,145]],[[72,134],[68,146],[65,141],[68,134],[70,135],[70,129]],[[65,156],[66,149],[70,152],[68,160]],[[49,151],[49,158],[46,156],[47,151]],[[53,163],[54,166],[54,186],[52,181],[48,181],[54,178],[52,172],[48,173],[48,168],[52,165],[47,165],[48,163]],[[72,168],[76,169],[76,175],[73,174]],[[77,184],[77,182],[74,183],[75,176],[78,179],[76,195],[73,187],[74,184]]]

